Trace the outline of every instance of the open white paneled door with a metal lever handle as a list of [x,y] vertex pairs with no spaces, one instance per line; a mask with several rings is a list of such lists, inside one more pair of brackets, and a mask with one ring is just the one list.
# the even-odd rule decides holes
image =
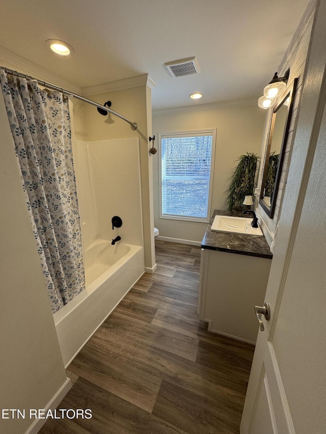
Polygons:
[[321,0],[241,434],[326,433],[325,18]]

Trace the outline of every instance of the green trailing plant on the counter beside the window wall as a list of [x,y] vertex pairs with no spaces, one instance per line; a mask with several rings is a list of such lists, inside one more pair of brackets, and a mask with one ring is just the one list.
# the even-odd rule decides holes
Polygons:
[[238,165],[231,177],[231,184],[227,190],[228,210],[242,210],[245,196],[253,195],[258,157],[254,153],[240,155]]

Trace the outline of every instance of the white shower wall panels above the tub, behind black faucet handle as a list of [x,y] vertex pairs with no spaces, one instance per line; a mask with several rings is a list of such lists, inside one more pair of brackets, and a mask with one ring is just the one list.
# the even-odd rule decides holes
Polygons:
[[[73,148],[83,248],[119,235],[143,246],[139,139],[76,140]],[[122,226],[112,230],[112,217]]]

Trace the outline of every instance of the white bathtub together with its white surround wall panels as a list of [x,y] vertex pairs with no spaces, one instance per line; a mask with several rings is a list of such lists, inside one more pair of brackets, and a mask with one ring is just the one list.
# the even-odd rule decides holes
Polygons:
[[[76,140],[73,153],[86,290],[53,315],[65,366],[145,268],[139,139]],[[113,216],[121,227],[112,229]]]

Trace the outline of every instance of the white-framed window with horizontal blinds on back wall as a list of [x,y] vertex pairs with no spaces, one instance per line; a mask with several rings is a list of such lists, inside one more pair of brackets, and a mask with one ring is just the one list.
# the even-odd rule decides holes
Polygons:
[[160,218],[209,220],[215,130],[160,133]]

